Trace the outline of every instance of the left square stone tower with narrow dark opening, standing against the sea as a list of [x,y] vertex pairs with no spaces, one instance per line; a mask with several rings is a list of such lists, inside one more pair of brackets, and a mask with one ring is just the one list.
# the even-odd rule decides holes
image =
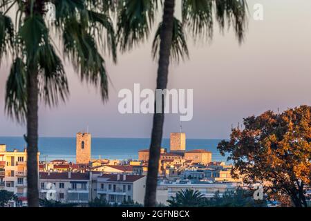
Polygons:
[[76,163],[88,164],[91,161],[91,133],[77,133]]

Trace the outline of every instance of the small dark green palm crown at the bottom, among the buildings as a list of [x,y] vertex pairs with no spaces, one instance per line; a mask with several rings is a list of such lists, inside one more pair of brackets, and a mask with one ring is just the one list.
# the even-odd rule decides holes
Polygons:
[[197,207],[202,206],[205,197],[199,191],[193,189],[186,189],[176,193],[176,197],[172,197],[169,206],[172,207]]

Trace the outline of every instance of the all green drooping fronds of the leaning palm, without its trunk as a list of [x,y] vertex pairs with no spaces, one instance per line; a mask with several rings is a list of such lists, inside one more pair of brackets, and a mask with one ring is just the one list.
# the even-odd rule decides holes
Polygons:
[[[121,50],[131,50],[133,46],[149,37],[154,19],[161,10],[157,0],[122,0],[117,6],[117,42]],[[214,20],[220,31],[225,27],[234,29],[238,41],[244,39],[247,28],[247,3],[245,0],[182,0],[182,21],[174,18],[173,42],[171,45],[172,61],[180,61],[189,57],[186,34],[194,39],[213,38]],[[162,23],[158,25],[153,39],[152,56],[157,58],[160,48],[160,32]]]

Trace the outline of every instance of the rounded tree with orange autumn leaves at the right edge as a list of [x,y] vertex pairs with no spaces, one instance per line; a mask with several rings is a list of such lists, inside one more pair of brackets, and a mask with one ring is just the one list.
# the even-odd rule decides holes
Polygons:
[[234,163],[232,175],[247,184],[261,183],[270,196],[287,195],[295,206],[307,206],[305,189],[311,180],[311,107],[266,111],[244,119],[230,140],[218,144]]

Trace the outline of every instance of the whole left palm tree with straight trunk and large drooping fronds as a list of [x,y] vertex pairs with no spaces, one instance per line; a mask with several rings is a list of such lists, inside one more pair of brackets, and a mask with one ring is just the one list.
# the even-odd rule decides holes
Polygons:
[[[109,1],[107,1],[109,2]],[[55,21],[46,18],[46,3],[55,5]],[[68,81],[59,55],[72,61],[82,80],[100,86],[108,97],[108,79],[99,48],[108,46],[116,59],[115,34],[106,1],[2,0],[0,3],[0,58],[10,54],[6,111],[27,124],[28,206],[39,206],[38,106],[57,106],[68,97]],[[8,16],[16,10],[15,26]],[[104,31],[104,32],[103,32]],[[106,33],[106,37],[102,37]],[[52,37],[53,36],[53,37]],[[57,46],[53,39],[59,37]]]

